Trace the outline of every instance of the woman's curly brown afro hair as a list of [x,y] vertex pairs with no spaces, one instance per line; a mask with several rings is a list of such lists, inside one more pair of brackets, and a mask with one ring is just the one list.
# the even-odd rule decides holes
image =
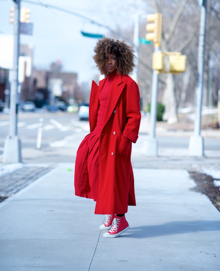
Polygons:
[[136,56],[131,46],[128,46],[124,41],[114,41],[113,38],[103,37],[99,39],[94,48],[96,53],[93,56],[96,66],[104,76],[107,76],[108,72],[105,69],[105,60],[108,54],[116,54],[116,69],[117,74],[129,74],[135,68]]

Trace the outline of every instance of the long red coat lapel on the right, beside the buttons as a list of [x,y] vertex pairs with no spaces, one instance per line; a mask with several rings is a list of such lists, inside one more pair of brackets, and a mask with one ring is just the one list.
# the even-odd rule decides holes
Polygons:
[[114,81],[112,83],[111,89],[109,91],[108,102],[106,105],[105,115],[103,119],[102,129],[104,128],[106,122],[111,117],[112,112],[116,106],[117,101],[121,95],[122,90],[124,89],[125,83],[122,83],[121,74],[116,74]]

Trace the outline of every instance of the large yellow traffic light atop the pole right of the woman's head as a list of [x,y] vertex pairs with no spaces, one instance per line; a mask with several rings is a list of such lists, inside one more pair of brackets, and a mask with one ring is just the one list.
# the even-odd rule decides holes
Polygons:
[[154,43],[159,43],[161,41],[161,28],[162,28],[162,13],[150,14],[147,16],[146,25],[147,33],[145,38],[147,41],[153,41]]

